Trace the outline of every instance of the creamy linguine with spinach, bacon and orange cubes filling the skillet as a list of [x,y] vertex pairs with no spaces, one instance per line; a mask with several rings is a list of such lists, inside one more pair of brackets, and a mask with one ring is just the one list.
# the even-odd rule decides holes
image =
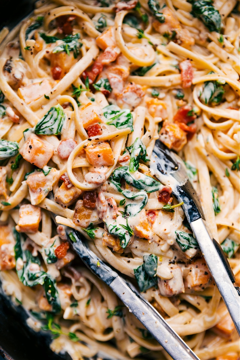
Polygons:
[[239,337],[151,170],[178,153],[239,286],[239,2],[39,0],[0,33],[0,279],[72,359],[170,359],[65,229],[131,278],[200,359]]

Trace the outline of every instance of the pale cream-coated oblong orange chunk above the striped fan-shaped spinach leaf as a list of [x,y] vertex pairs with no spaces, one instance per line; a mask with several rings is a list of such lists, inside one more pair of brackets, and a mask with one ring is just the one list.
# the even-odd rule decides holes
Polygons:
[[51,85],[48,80],[44,79],[41,82],[34,82],[27,86],[19,87],[17,94],[19,98],[23,99],[26,104],[41,98],[51,90]]

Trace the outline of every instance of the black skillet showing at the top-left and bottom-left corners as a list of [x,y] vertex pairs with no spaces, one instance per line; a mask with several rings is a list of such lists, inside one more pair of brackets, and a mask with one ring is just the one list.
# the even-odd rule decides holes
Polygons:
[[[0,0],[0,30],[12,30],[34,9],[35,0]],[[0,282],[1,287],[1,282]],[[0,291],[0,356],[8,360],[69,360],[68,354],[57,355],[49,345],[48,334],[36,333],[26,324],[22,306],[13,306],[10,297]]]

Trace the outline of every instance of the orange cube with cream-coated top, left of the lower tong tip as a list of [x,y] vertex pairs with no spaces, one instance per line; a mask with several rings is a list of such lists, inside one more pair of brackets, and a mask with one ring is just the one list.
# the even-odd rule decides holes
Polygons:
[[19,220],[16,230],[23,233],[36,233],[41,221],[41,210],[39,207],[24,204],[19,208]]

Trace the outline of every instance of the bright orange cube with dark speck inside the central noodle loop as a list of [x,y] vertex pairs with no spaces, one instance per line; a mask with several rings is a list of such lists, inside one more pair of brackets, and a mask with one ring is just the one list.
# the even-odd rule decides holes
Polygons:
[[110,166],[114,164],[113,152],[108,143],[89,145],[86,149],[86,158],[94,166]]

